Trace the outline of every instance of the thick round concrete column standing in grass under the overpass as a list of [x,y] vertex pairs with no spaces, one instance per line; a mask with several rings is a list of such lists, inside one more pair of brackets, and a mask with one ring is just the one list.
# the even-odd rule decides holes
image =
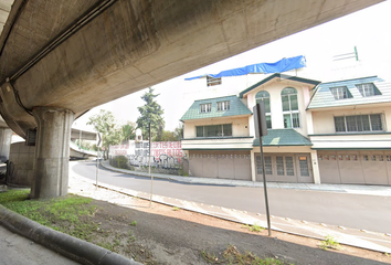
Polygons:
[[74,113],[56,107],[35,107],[38,125],[31,198],[67,194],[71,127]]

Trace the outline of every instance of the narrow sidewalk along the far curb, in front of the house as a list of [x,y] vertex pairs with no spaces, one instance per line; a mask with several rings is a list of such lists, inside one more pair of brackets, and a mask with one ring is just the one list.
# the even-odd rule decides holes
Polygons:
[[[136,174],[139,177],[150,178],[148,172],[130,171],[126,169],[118,169],[112,167],[108,161],[102,161],[101,165],[112,171]],[[214,186],[232,186],[232,187],[254,187],[262,188],[263,182],[253,182],[247,180],[231,180],[231,179],[212,179],[212,178],[197,178],[197,177],[182,177],[173,174],[152,173],[154,178],[167,179],[182,183],[190,184],[214,184]],[[362,195],[381,195],[391,197],[391,187],[387,186],[358,186],[358,184],[314,184],[314,183],[281,183],[267,182],[268,189],[293,189],[293,190],[314,190],[325,192],[342,192],[350,194]]]

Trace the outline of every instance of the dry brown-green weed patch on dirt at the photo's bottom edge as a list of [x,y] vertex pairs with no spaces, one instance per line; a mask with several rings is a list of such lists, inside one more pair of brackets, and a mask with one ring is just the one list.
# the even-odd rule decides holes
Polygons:
[[202,251],[201,255],[210,264],[230,264],[230,265],[287,265],[288,263],[273,258],[258,257],[251,252],[241,253],[234,245],[229,245],[221,257],[214,253]]

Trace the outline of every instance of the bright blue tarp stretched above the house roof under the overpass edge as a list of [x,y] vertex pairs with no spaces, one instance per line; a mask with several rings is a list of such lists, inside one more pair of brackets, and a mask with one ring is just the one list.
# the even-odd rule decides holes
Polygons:
[[[302,68],[306,66],[306,57],[303,55],[296,57],[288,57],[279,60],[275,63],[260,63],[260,64],[252,64],[240,68],[233,70],[225,70],[220,72],[219,74],[208,74],[213,78],[224,77],[224,76],[239,76],[239,75],[246,75],[251,73],[263,73],[263,74],[271,74],[271,73],[282,73],[294,68]],[[204,77],[205,75],[194,76],[190,78],[184,78],[186,81],[197,80]]]

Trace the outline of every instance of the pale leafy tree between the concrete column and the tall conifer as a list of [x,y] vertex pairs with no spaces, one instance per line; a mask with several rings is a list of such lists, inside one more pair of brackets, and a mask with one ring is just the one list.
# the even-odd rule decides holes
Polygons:
[[99,114],[89,117],[87,125],[102,134],[102,146],[105,149],[105,158],[108,157],[109,146],[118,145],[121,141],[121,130],[116,124],[112,112],[101,109]]

